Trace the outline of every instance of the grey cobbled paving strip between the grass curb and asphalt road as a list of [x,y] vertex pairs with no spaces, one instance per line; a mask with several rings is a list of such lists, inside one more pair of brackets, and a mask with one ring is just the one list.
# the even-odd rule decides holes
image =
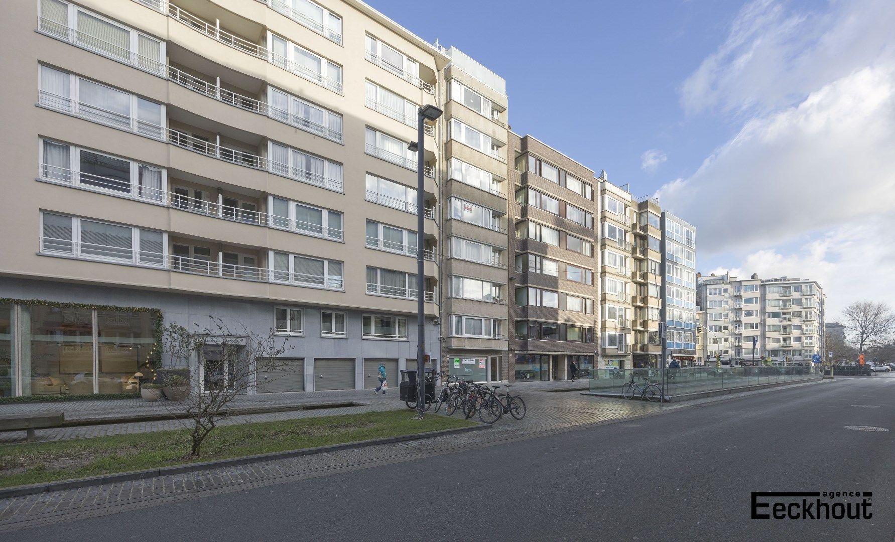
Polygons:
[[[572,387],[571,384],[558,383],[558,385]],[[525,419],[522,421],[501,419],[493,428],[483,431],[2,499],[0,532],[128,512],[150,505],[241,491],[347,470],[365,469],[392,462],[405,462],[471,447],[505,444],[618,419],[671,411],[695,403],[729,400],[741,395],[661,407],[656,403],[628,402],[621,399],[584,396],[574,392],[549,393],[545,391],[548,387],[550,386],[516,386],[514,391],[523,394],[528,405]],[[352,394],[355,393],[347,392],[340,397],[345,397],[346,394],[348,397],[353,397]],[[342,410],[345,409],[340,409]]]

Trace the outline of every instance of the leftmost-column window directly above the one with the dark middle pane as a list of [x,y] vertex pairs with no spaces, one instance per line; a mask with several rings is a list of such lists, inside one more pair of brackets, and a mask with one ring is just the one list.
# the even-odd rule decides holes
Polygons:
[[39,101],[94,123],[155,139],[165,136],[165,106],[44,65]]

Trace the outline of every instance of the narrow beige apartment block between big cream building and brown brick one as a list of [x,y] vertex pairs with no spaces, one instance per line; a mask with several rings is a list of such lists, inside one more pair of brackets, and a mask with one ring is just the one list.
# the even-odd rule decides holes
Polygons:
[[466,379],[499,382],[509,375],[507,354],[506,81],[456,47],[440,48],[449,63],[445,97],[443,171],[439,201],[442,370]]

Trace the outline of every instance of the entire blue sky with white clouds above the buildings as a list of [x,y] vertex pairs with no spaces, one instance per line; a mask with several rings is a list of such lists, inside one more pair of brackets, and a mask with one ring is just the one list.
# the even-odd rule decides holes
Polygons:
[[694,224],[703,273],[895,306],[892,0],[370,2],[503,76],[514,131]]

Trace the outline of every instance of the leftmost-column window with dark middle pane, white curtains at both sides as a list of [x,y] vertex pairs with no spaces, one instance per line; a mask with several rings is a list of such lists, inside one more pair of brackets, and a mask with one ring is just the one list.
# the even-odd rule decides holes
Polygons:
[[161,201],[166,191],[166,172],[160,167],[50,140],[41,141],[40,153],[40,176],[49,181],[153,201]]

